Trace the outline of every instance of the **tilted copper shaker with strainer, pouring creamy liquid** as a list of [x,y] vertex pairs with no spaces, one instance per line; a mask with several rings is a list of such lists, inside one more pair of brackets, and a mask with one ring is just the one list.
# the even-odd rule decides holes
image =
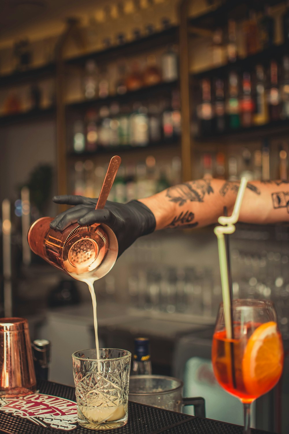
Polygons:
[[[104,207],[120,157],[111,158],[95,209]],[[85,275],[95,279],[105,276],[117,260],[118,244],[114,232],[105,224],[72,224],[62,232],[50,228],[51,217],[36,220],[29,229],[31,250],[51,265],[81,279]]]

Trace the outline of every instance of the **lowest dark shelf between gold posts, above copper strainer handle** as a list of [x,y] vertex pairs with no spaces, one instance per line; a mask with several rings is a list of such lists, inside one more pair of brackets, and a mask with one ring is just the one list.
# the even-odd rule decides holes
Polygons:
[[70,159],[82,159],[82,158],[93,158],[97,155],[107,155],[107,154],[122,154],[122,153],[132,153],[138,151],[144,151],[149,149],[150,151],[153,149],[168,149],[168,148],[177,148],[181,138],[175,138],[170,140],[162,140],[159,142],[150,142],[146,146],[132,146],[132,145],[120,145],[120,146],[107,146],[107,147],[99,147],[97,151],[94,152],[69,152],[68,158]]

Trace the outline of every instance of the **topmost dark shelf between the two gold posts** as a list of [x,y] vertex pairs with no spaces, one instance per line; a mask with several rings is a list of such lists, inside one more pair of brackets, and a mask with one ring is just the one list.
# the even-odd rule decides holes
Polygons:
[[96,59],[97,61],[107,61],[116,59],[117,57],[139,54],[146,49],[152,49],[165,44],[174,43],[178,37],[178,26],[171,26],[162,32],[153,33],[152,35],[134,39],[133,41],[124,43],[122,45],[111,46],[107,49],[87,53],[83,56],[73,57],[67,59],[68,65],[84,65],[88,59]]

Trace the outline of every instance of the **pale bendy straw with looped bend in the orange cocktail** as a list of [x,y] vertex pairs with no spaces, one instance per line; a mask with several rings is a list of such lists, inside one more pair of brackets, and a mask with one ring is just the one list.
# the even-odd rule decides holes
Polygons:
[[240,215],[240,207],[242,204],[245,188],[247,186],[247,178],[241,178],[239,191],[237,194],[236,202],[234,205],[233,213],[230,217],[221,216],[218,218],[218,223],[223,226],[217,226],[214,229],[214,233],[218,238],[218,251],[219,251],[219,262],[220,262],[220,272],[221,272],[221,284],[222,284],[222,295],[223,295],[223,306],[224,306],[224,319],[226,327],[227,339],[232,339],[233,324],[231,322],[231,299],[228,278],[228,268],[227,268],[227,254],[225,247],[225,233],[235,232],[234,224],[237,223]]

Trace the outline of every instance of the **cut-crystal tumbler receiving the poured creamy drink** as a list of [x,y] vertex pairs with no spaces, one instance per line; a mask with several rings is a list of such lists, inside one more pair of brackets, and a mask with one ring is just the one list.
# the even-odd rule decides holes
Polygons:
[[117,428],[127,423],[131,353],[96,349],[72,354],[78,424],[92,430]]

